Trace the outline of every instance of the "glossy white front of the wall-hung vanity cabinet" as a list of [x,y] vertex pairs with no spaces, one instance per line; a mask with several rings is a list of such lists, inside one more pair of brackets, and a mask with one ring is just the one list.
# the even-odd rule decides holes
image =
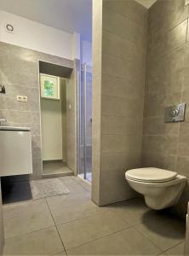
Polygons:
[[31,132],[0,131],[0,177],[32,173]]

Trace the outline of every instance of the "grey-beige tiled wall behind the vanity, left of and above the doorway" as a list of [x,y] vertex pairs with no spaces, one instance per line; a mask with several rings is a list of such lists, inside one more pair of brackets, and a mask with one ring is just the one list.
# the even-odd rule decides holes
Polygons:
[[[8,120],[5,125],[31,127],[33,178],[42,177],[39,60],[73,67],[70,60],[0,43],[0,83],[6,87],[6,94],[0,94],[0,116]],[[16,102],[17,95],[27,96],[28,102]]]

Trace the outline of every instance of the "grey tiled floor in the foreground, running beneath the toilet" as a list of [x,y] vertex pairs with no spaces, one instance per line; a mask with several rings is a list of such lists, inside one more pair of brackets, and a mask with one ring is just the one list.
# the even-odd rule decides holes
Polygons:
[[60,177],[69,195],[3,207],[4,255],[182,255],[185,223],[142,199],[97,207],[90,185]]

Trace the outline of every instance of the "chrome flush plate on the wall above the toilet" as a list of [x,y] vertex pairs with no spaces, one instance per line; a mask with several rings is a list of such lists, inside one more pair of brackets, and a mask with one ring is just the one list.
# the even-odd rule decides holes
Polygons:
[[183,122],[185,120],[186,103],[170,106],[164,109],[165,123]]

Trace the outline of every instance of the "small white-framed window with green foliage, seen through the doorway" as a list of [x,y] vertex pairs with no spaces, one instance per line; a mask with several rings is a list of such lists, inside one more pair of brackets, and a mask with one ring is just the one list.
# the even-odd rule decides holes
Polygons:
[[41,97],[51,100],[60,100],[60,78],[48,74],[40,74]]

